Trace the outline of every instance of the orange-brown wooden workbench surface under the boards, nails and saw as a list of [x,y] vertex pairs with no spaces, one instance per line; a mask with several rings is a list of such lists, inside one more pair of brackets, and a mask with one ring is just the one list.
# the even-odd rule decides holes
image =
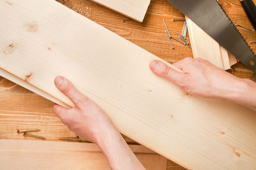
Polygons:
[[[184,15],[166,0],[152,0],[143,23],[134,20],[123,22],[129,18],[89,0],[58,1],[170,63],[184,57],[192,57],[188,46],[180,45],[176,41],[173,41],[175,48],[173,50],[170,48],[164,32],[163,19],[166,20],[171,34],[177,38],[173,31],[181,33],[183,22],[172,22],[172,19],[184,18]],[[253,28],[239,0],[220,0],[220,3],[235,24]],[[256,41],[255,31],[238,29],[247,41]],[[251,45],[256,52],[256,44]],[[241,63],[236,64],[234,70],[229,72],[241,78],[252,79],[253,76],[252,71],[246,69]],[[41,129],[36,134],[44,136],[49,141],[75,136],[54,115],[52,105],[51,101],[0,77],[0,139],[33,139],[17,134],[17,129]],[[129,138],[125,137],[125,139],[127,143],[136,143]],[[170,160],[166,167],[167,169],[184,169]]]

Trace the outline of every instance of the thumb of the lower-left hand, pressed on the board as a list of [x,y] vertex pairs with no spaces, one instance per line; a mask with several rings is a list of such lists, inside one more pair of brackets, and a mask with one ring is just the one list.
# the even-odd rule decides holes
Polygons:
[[84,96],[74,85],[64,78],[57,76],[54,80],[56,87],[63,92],[77,107],[81,107],[88,101],[88,97]]

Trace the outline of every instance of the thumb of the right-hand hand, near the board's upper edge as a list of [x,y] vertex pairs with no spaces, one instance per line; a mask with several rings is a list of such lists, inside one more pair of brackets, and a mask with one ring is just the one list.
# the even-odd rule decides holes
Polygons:
[[184,75],[159,60],[153,60],[150,62],[149,67],[153,73],[157,74],[157,76],[161,76],[175,84],[179,82]]

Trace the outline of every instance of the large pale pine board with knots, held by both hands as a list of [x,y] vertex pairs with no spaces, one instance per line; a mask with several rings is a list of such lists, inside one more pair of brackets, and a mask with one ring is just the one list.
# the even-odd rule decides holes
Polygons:
[[72,105],[53,84],[58,74],[66,76],[120,132],[185,167],[255,167],[255,112],[187,96],[150,72],[156,56],[61,4],[12,2],[0,3],[5,71]]

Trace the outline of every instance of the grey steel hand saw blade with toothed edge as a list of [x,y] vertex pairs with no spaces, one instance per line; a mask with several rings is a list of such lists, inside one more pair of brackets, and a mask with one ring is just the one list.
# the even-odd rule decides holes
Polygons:
[[168,0],[237,59],[256,71],[256,56],[218,0]]

